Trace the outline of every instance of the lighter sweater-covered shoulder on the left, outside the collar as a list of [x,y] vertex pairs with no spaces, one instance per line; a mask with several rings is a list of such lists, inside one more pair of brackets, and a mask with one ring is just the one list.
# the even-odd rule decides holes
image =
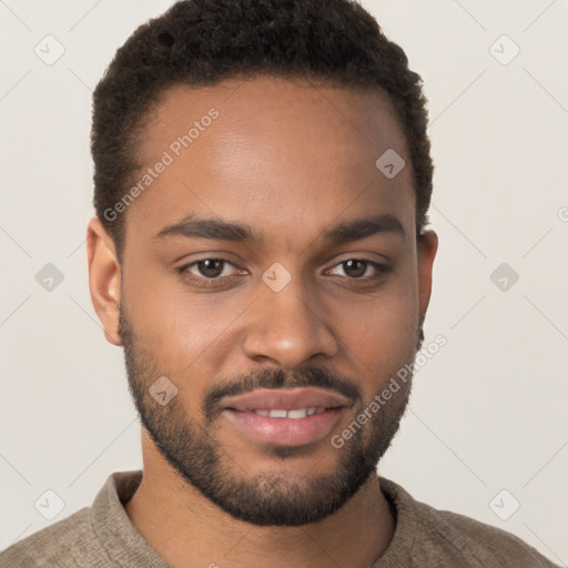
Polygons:
[[91,526],[90,507],[73,513],[0,551],[0,568],[77,568],[85,554],[93,559],[102,550]]

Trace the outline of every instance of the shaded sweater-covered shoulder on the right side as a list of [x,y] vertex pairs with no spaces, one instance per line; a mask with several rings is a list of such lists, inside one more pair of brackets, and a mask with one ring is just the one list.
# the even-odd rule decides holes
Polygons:
[[412,527],[412,566],[558,568],[511,532],[417,501],[387,479],[381,487]]

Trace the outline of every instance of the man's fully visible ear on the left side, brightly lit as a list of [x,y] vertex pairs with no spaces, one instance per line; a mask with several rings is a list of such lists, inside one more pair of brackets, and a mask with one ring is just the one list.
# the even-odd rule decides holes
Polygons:
[[97,217],[91,219],[87,229],[87,256],[91,302],[102,323],[106,341],[120,346],[120,264],[114,242]]

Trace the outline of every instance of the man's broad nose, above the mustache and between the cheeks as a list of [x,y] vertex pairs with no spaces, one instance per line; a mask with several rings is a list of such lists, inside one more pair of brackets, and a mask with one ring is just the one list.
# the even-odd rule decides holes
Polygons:
[[298,276],[280,291],[264,282],[247,311],[243,349],[258,363],[277,364],[293,369],[316,357],[332,358],[338,351],[337,339],[327,321],[325,306],[308,293]]

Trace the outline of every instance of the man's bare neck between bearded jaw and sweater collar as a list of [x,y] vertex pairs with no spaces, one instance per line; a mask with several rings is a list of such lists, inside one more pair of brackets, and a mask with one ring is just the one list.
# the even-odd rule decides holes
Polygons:
[[[257,527],[235,519],[182,479],[144,444],[144,475],[125,504],[132,524],[174,568],[367,568],[395,529],[377,476],[335,514],[301,527]],[[151,454],[152,459],[146,459]]]

